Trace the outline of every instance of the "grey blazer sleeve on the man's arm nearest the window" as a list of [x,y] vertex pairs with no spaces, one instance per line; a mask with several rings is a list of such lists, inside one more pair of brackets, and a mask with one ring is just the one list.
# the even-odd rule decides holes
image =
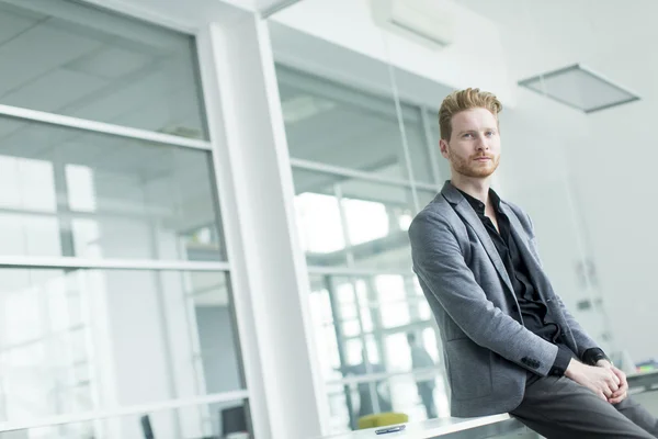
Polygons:
[[456,234],[440,213],[426,210],[409,227],[413,271],[474,342],[540,375],[557,346],[524,328],[489,301],[466,264]]

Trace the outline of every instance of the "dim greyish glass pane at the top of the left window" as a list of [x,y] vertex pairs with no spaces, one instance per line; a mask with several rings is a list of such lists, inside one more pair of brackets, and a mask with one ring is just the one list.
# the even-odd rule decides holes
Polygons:
[[0,103],[206,138],[194,40],[69,1],[0,3]]

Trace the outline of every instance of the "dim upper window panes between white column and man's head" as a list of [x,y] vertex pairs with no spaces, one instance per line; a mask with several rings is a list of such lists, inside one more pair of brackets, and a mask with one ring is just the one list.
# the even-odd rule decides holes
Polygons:
[[[408,179],[393,99],[277,66],[281,105],[291,157]],[[416,178],[431,181],[420,112],[402,105]]]

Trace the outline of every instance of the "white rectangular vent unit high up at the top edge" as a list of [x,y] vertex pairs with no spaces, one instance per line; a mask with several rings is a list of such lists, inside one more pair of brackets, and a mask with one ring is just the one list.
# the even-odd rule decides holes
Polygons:
[[436,0],[371,0],[375,23],[432,49],[453,42],[451,11]]

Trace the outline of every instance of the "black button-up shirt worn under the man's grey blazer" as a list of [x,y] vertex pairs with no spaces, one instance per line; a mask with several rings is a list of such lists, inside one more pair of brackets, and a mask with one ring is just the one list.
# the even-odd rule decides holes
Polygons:
[[[519,308],[521,311],[521,315],[519,315],[518,311],[514,311],[517,315],[512,315],[512,317],[518,322],[523,323],[526,329],[558,347],[557,357],[551,368],[549,374],[564,375],[569,365],[569,361],[572,357],[577,356],[564,344],[559,325],[552,318],[546,304],[543,302],[533,283],[525,261],[511,234],[510,219],[500,209],[500,198],[492,189],[489,190],[489,196],[494,204],[494,209],[496,210],[496,218],[498,221],[499,230],[497,230],[491,219],[485,215],[485,203],[470,196],[466,192],[462,192],[466,201],[468,201],[473,210],[477,213],[483,225],[487,229],[489,237],[494,241],[500,259],[502,259],[504,263],[506,271],[514,288],[514,295],[517,296]],[[603,351],[598,348],[588,349],[583,354],[583,359],[586,357],[586,362],[590,364],[595,363],[601,358],[606,358]],[[540,375],[530,372],[529,378],[534,381],[538,379]]]

